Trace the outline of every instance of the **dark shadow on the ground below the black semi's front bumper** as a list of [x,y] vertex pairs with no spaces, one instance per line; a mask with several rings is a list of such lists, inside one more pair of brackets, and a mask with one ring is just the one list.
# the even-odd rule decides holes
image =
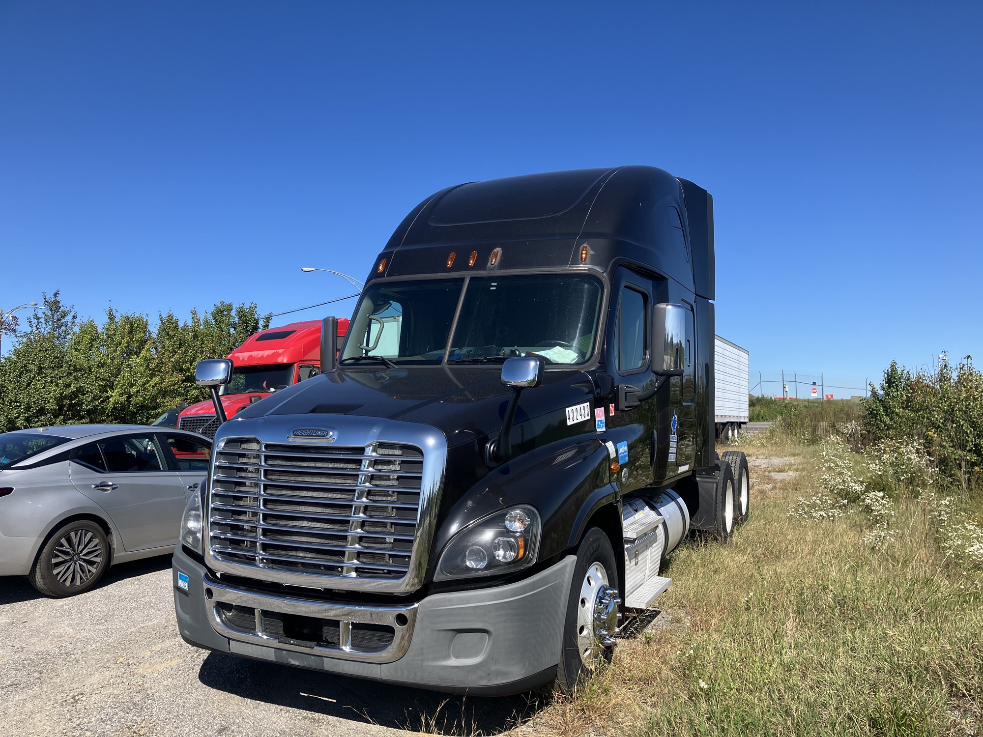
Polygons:
[[210,652],[199,680],[244,699],[410,732],[492,735],[525,723],[549,700],[439,694]]

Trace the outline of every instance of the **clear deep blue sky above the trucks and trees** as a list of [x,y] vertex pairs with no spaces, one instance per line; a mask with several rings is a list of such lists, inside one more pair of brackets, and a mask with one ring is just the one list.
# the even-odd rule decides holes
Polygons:
[[301,266],[364,278],[447,185],[643,163],[713,193],[718,332],[752,372],[860,386],[980,355],[981,22],[968,2],[5,0],[0,307],[282,312],[349,294]]

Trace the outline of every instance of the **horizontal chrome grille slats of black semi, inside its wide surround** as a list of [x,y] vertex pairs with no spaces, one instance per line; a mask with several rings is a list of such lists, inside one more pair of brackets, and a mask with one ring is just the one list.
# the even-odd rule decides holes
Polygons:
[[402,579],[416,538],[423,464],[420,448],[406,443],[225,438],[208,494],[211,555],[269,571]]

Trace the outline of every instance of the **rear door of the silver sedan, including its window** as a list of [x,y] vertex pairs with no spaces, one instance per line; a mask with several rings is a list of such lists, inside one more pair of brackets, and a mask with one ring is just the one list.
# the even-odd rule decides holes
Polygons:
[[134,552],[177,544],[187,495],[155,433],[89,443],[72,461],[72,483],[106,510],[124,549]]

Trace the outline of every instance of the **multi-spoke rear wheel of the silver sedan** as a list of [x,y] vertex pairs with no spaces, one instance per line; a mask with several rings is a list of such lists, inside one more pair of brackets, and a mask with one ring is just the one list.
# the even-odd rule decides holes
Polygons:
[[30,585],[41,594],[61,598],[87,592],[109,567],[109,540],[102,528],[76,520],[56,530],[30,569]]

